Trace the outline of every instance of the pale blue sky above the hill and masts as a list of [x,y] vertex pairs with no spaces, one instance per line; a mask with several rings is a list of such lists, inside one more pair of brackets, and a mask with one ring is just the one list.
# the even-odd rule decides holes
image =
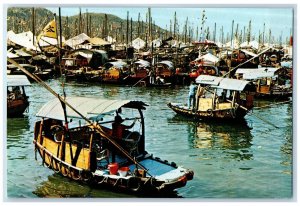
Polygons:
[[[119,16],[120,18],[127,18],[127,11],[129,11],[129,18],[132,18],[134,21],[138,20],[138,13],[141,14],[141,20],[145,22],[147,7],[137,7],[124,5],[120,6],[80,6],[80,5],[68,5],[61,7],[62,16],[73,16],[79,14],[79,8],[81,12],[85,13],[87,10],[91,13],[107,13]],[[58,7],[47,7],[47,9],[52,12],[58,13]],[[290,37],[291,32],[293,31],[293,18],[294,18],[294,9],[292,6],[288,5],[273,5],[273,6],[251,6],[251,7],[242,7],[239,6],[210,6],[200,7],[199,5],[191,6],[152,6],[151,15],[155,24],[159,25],[163,29],[170,28],[170,20],[172,24],[174,22],[174,13],[176,11],[176,17],[180,25],[180,32],[183,31],[183,26],[186,19],[188,18],[189,25],[194,28],[201,27],[201,17],[205,10],[206,22],[204,28],[209,27],[212,34],[214,30],[214,24],[216,23],[216,38],[220,38],[221,27],[223,26],[224,35],[226,37],[227,33],[231,35],[232,30],[232,21],[234,20],[234,30],[236,29],[237,24],[239,25],[239,33],[244,29],[247,29],[249,21],[251,20],[251,30],[252,35],[258,38],[258,34],[263,33],[264,23],[265,23],[265,37],[268,36],[269,29],[272,31],[272,36],[275,40],[279,40],[282,35],[283,41]]]

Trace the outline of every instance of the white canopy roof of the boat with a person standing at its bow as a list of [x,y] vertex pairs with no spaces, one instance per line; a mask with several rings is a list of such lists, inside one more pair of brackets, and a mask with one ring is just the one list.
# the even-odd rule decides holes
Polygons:
[[229,79],[222,77],[215,77],[210,75],[200,75],[196,79],[198,84],[211,85],[212,88],[227,89],[234,91],[243,91],[249,81],[239,79]]

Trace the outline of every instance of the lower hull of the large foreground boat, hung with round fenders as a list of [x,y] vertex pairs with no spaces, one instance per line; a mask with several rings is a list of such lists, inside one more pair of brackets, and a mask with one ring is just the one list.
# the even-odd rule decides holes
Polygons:
[[[44,138],[42,144],[38,141],[33,141],[35,144],[36,152],[39,153],[42,158],[43,165],[52,169],[54,172],[67,177],[69,179],[78,181],[80,183],[88,184],[92,187],[113,189],[122,192],[135,192],[135,193],[162,193],[171,192],[177,188],[184,187],[188,180],[193,179],[194,173],[191,170],[186,170],[182,175],[172,181],[162,181],[159,178],[149,175],[130,175],[121,177],[119,175],[111,175],[107,170],[94,170],[89,168],[89,165],[78,163],[76,165],[70,164],[68,161],[63,161],[58,158],[53,151],[59,150],[59,144]],[[56,145],[57,144],[57,145]],[[45,146],[47,145],[47,146]],[[72,146],[74,147],[74,146]],[[68,149],[67,149],[68,150]],[[72,149],[76,151],[76,148]],[[82,151],[84,152],[84,151]],[[83,154],[82,157],[86,157]],[[81,157],[79,157],[80,159]],[[66,158],[67,159],[67,158]],[[145,152],[143,155],[137,158],[137,161],[143,164],[143,162],[151,161],[156,164],[156,167],[170,167],[173,170],[177,170],[175,163],[168,163],[167,161],[162,161],[159,158],[154,158]],[[82,161],[87,162],[87,160]],[[147,163],[145,163],[147,164]],[[136,167],[134,164],[127,164],[123,166],[128,166],[133,171]],[[150,170],[150,169],[149,169]],[[173,171],[172,170],[172,171]],[[182,170],[178,168],[178,170]],[[136,171],[134,171],[136,172]]]

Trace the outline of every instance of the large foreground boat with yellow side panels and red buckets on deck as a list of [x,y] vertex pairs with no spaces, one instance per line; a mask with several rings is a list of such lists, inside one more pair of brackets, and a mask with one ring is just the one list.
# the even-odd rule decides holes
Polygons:
[[[173,191],[193,178],[191,170],[146,152],[144,102],[87,97],[67,97],[66,102],[93,123],[86,124],[69,107],[63,109],[59,99],[37,113],[41,120],[35,123],[35,150],[56,173],[95,187],[143,193]],[[124,114],[124,122],[137,120],[121,139],[112,126],[114,113]]]

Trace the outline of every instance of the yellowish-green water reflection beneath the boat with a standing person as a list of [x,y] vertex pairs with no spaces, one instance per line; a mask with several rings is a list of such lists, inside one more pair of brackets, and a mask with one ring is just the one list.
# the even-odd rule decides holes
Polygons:
[[221,150],[233,159],[250,160],[253,157],[252,127],[245,120],[232,122],[195,122],[179,115],[171,121],[187,125],[189,147],[202,150]]

